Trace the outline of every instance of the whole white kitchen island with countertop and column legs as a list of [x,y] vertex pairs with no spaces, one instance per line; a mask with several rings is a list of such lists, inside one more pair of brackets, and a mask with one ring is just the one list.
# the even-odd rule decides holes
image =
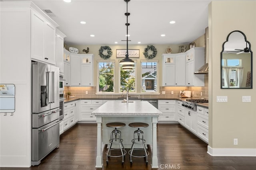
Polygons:
[[[149,102],[146,101],[134,101],[134,102],[122,102],[122,101],[109,101],[100,106],[98,109],[92,112],[92,115],[96,116],[97,122],[97,156],[96,156],[96,168],[102,168],[102,136],[108,136],[108,130],[110,128],[106,127],[107,122],[120,121],[126,123],[126,127],[123,127],[121,131],[122,138],[124,141],[130,142],[133,139],[133,132],[136,130],[135,128],[131,128],[128,126],[129,123],[132,122],[144,122],[148,123],[150,126],[143,129],[149,130],[150,133],[144,132],[145,136],[150,136],[149,143],[152,144],[152,168],[158,168],[158,158],[157,158],[157,143],[156,143],[156,125],[158,122],[158,116],[161,115],[162,112],[152,106]],[[113,129],[110,129],[111,131]],[[103,132],[103,134],[102,134]],[[108,134],[106,134],[108,133]],[[124,136],[124,134],[129,134],[128,136]],[[128,139],[130,136],[130,139]],[[105,140],[103,140],[104,142]],[[152,141],[152,143],[151,143]],[[126,145],[127,146],[127,145]],[[104,155],[106,156],[106,155]]]

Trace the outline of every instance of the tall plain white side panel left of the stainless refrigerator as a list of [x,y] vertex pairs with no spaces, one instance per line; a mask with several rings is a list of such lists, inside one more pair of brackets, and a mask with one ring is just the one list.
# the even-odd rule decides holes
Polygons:
[[0,167],[30,167],[30,9],[1,7],[0,17],[0,84],[14,84],[16,93],[14,115],[0,113]]

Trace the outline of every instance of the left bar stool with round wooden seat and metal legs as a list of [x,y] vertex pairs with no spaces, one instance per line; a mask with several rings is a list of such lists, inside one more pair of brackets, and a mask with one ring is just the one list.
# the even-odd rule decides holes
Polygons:
[[[110,140],[109,140],[109,148],[108,151],[106,152],[107,155],[107,159],[106,159],[106,163],[108,164],[108,157],[120,157],[122,156],[122,164],[124,164],[124,156],[126,154],[126,150],[124,149],[124,145],[123,145],[123,139],[121,138],[121,131],[117,130],[116,128],[120,128],[120,127],[125,127],[126,124],[125,123],[121,123],[121,122],[111,122],[111,123],[107,123],[106,127],[112,127],[115,128],[111,133],[110,133]],[[120,148],[113,148],[112,144],[119,144]],[[121,146],[122,145],[122,146]],[[121,150],[121,155],[111,155],[111,150]]]

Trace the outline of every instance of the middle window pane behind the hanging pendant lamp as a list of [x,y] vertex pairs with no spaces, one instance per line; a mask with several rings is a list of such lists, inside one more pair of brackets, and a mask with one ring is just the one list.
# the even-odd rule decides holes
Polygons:
[[[136,64],[134,64],[136,67]],[[124,71],[120,64],[120,92],[129,88],[129,92],[136,92],[135,67],[131,71]]]

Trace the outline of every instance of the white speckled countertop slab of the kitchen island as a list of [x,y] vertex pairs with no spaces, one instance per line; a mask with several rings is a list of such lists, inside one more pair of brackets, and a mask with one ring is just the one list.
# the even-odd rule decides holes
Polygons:
[[162,115],[162,112],[152,104],[146,101],[133,101],[133,102],[122,102],[122,101],[108,101],[102,106],[92,111],[92,115],[102,116],[158,116]]

